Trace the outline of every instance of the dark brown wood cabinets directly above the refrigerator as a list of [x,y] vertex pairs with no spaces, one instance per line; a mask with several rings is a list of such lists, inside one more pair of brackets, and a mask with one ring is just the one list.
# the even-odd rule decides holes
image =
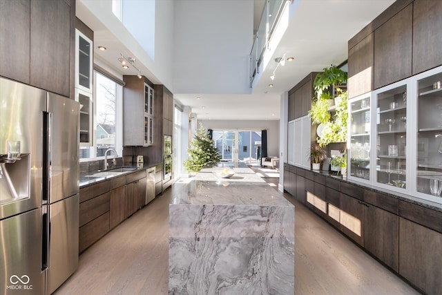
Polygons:
[[75,1],[1,0],[0,75],[70,97],[74,19]]

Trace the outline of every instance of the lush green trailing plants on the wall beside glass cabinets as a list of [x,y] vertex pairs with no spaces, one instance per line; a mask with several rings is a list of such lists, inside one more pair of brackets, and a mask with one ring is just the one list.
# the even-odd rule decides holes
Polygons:
[[[309,114],[313,124],[323,124],[323,133],[316,141],[320,146],[327,146],[332,142],[345,142],[347,139],[347,91],[341,88],[347,82],[347,73],[334,65],[323,70],[314,80],[316,97]],[[328,111],[328,100],[334,95],[337,104],[332,115]]]

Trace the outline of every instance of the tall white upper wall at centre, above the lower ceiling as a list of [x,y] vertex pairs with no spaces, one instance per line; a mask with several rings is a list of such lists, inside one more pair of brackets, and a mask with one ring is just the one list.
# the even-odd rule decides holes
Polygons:
[[253,1],[180,0],[174,5],[174,93],[250,93]]

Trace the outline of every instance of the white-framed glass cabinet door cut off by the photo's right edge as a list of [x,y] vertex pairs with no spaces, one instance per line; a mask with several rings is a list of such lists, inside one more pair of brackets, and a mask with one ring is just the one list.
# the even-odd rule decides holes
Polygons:
[[442,73],[417,81],[416,190],[436,198],[442,191],[441,84]]

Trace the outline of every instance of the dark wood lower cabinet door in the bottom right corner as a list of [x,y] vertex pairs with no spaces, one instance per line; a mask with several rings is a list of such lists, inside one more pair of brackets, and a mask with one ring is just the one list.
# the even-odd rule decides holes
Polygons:
[[442,290],[442,234],[399,219],[399,274],[425,294]]

